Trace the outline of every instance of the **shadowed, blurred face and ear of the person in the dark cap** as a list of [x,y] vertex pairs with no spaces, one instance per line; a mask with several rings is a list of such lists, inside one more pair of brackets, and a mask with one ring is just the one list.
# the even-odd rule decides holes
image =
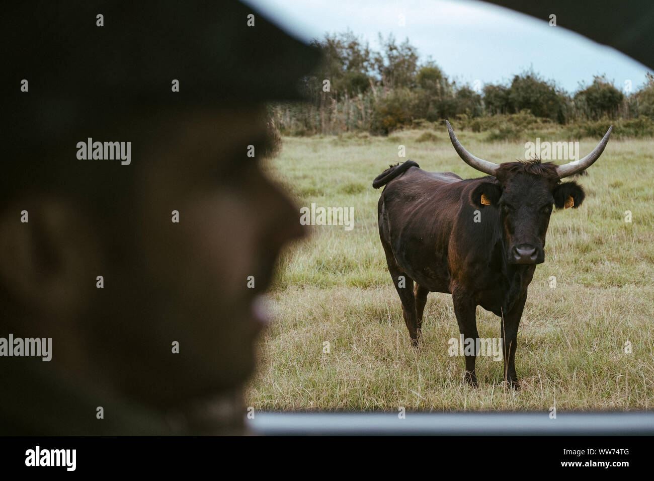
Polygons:
[[[45,222],[51,201],[39,198],[29,204],[29,228],[43,223],[43,243],[61,249],[48,282],[22,255],[5,257],[0,267],[6,277],[30,269],[39,277],[25,277],[16,293],[39,313],[24,326],[52,334],[52,363],[118,395],[175,408],[236,389],[252,374],[263,326],[258,294],[284,244],[304,231],[298,210],[262,173],[271,138],[259,111],[196,111],[160,124],[167,127],[156,141],[133,147],[131,165],[118,167],[132,169],[124,172],[134,176],[134,188],[114,227],[96,232],[90,226],[110,221],[87,223],[92,207],[61,199],[53,201],[54,220]],[[19,204],[7,211],[12,236],[31,232],[14,228]],[[7,242],[25,245],[31,237]],[[24,256],[37,250],[26,246]],[[98,275],[103,289],[95,288]]]

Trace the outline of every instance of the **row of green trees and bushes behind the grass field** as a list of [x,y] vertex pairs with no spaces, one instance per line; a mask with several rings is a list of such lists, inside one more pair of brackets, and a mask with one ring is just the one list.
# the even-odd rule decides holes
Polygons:
[[[623,120],[629,132],[654,134],[654,77],[646,74],[639,90],[615,87],[594,76],[568,94],[555,81],[534,71],[513,75],[504,84],[458,84],[431,59],[421,61],[408,39],[398,43],[379,35],[379,52],[351,31],[315,40],[323,62],[315,76],[303,80],[309,103],[271,106],[284,135],[341,134],[366,131],[386,135],[421,122],[457,119],[464,128],[485,130],[496,118],[525,115],[560,125],[604,124]],[[493,120],[495,118],[495,120]],[[604,120],[604,122],[602,122]],[[592,129],[591,129],[592,130]],[[592,134],[592,132],[591,132]]]

